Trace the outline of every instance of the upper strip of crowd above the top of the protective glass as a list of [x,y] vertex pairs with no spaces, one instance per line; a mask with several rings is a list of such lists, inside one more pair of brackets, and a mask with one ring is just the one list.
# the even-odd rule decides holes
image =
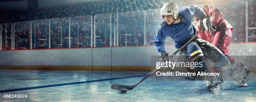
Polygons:
[[[229,6],[236,6],[244,5],[245,1],[246,0],[215,0],[214,3],[229,3]],[[1,23],[157,9],[161,8],[161,6],[167,2],[176,2],[179,6],[212,3],[209,0],[99,0],[38,8],[35,10],[5,10],[2,13],[5,15],[2,16]],[[248,4],[255,4],[255,0],[249,0]]]

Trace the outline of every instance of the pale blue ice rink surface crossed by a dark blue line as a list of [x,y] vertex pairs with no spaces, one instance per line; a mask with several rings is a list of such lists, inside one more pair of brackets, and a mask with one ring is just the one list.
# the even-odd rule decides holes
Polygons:
[[[146,74],[148,72],[0,70],[0,102],[256,101],[255,74],[248,87],[226,81],[216,94],[207,92],[203,81],[154,81],[150,77],[126,93],[110,88],[111,84],[135,84]],[[4,98],[5,94],[27,94],[27,98]]]

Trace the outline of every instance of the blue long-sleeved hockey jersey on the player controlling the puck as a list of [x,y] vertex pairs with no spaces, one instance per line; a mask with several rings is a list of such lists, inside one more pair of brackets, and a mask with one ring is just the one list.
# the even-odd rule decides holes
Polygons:
[[191,23],[193,17],[203,18],[206,16],[205,12],[196,6],[183,8],[179,10],[178,15],[182,18],[182,22],[168,25],[164,21],[159,27],[154,41],[158,52],[165,52],[164,43],[166,37],[171,37],[174,41],[175,48],[180,48],[196,33]]

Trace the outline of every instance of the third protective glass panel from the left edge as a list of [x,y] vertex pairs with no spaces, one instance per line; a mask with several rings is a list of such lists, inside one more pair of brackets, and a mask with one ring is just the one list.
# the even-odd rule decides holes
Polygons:
[[32,21],[32,49],[49,48],[49,20]]

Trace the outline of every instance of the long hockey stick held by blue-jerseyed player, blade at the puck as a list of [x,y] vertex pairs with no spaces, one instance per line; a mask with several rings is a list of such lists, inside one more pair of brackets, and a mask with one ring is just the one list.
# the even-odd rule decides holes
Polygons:
[[[187,43],[185,43],[181,48],[179,48],[177,51],[174,52],[174,54],[172,54],[171,56],[169,56],[167,58],[167,60],[169,60],[170,58],[172,58],[174,55],[176,55],[179,51],[182,50],[182,48],[184,48],[189,42],[191,42],[192,40],[194,40],[194,38],[202,32],[202,28],[200,29],[200,31],[198,33],[196,33],[194,36],[192,36],[190,38],[189,41],[187,41]],[[148,78],[148,76],[150,76],[151,74],[153,74],[154,72],[156,72],[158,69],[154,69],[152,70],[150,73],[148,73],[146,76],[144,76],[139,82],[137,82],[136,84],[133,84],[133,85],[121,85],[121,84],[112,84],[111,85],[111,88],[112,89],[117,89],[117,90],[120,90],[120,89],[127,89],[127,90],[130,90],[130,89],[133,89],[134,87],[136,87],[138,84],[141,84],[141,82],[143,82],[145,79]]]

